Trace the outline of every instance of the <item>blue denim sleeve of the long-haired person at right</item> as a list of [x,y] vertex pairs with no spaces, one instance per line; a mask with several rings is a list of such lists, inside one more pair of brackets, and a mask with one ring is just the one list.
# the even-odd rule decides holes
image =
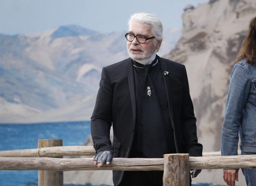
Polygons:
[[221,132],[221,155],[237,155],[240,121],[249,92],[249,76],[241,64],[235,64],[231,73]]

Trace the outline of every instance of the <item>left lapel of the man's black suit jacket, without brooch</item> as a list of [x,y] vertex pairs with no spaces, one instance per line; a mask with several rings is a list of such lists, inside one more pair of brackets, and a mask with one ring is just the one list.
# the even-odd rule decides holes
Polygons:
[[136,99],[135,99],[135,85],[134,85],[134,74],[133,74],[133,63],[132,59],[128,60],[127,63],[127,78],[130,91],[130,100],[132,103],[132,113],[134,123],[136,121]]

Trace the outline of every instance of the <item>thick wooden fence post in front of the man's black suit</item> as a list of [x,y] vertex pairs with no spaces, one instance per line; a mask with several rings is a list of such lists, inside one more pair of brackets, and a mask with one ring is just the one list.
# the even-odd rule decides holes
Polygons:
[[164,154],[163,186],[189,186],[189,154]]

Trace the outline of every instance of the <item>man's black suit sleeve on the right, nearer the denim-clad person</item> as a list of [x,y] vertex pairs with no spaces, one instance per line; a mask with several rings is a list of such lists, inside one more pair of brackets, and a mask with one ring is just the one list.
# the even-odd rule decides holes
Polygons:
[[203,145],[198,143],[196,134],[196,118],[194,107],[189,94],[189,83],[186,69],[183,69],[183,104],[181,122],[183,123],[183,137],[185,152],[190,156],[202,156]]

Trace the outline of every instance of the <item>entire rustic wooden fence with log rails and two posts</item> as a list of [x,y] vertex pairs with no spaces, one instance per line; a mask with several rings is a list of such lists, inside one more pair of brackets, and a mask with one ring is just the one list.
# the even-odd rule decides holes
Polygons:
[[186,186],[189,185],[190,169],[256,168],[255,155],[220,156],[219,152],[204,153],[203,157],[165,154],[164,158],[113,158],[111,164],[98,168],[93,164],[93,158],[62,158],[66,155],[94,155],[91,146],[60,145],[62,140],[39,140],[37,149],[2,151],[0,170],[39,170],[39,186],[63,186],[63,171],[163,170],[164,186]]

